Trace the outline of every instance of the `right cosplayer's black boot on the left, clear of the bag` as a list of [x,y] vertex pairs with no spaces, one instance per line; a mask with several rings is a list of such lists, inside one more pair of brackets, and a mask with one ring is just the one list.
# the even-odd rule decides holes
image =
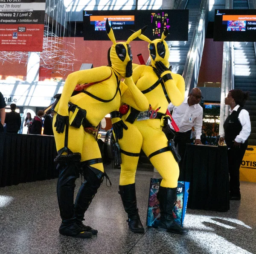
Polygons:
[[128,225],[131,231],[135,233],[144,233],[145,230],[140,221],[139,209],[137,208],[135,183],[128,185],[119,185],[119,194],[125,211],[128,214]]

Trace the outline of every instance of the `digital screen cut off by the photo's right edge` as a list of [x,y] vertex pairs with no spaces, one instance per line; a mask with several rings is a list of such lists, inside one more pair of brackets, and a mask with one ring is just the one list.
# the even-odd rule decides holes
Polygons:
[[216,9],[214,41],[256,41],[255,9]]

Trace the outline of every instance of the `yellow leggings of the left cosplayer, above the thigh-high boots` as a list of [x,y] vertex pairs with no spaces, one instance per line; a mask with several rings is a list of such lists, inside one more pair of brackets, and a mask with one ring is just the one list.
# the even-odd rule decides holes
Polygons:
[[[57,114],[55,114],[53,118],[53,126],[56,120],[56,116]],[[53,127],[57,151],[64,147],[65,131],[66,127],[63,133],[58,133],[56,131],[56,128]],[[80,128],[69,126],[67,146],[73,153],[79,152],[81,154],[81,162],[85,160],[101,158],[99,146],[97,141],[95,140],[94,135],[85,132],[83,126],[81,126]],[[92,166],[104,172],[102,163],[96,163]]]

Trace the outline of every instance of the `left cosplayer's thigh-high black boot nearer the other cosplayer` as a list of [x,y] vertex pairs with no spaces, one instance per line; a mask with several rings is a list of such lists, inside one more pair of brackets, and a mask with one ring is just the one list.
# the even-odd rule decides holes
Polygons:
[[84,213],[89,207],[91,201],[93,200],[94,195],[97,193],[97,190],[103,181],[105,173],[98,170],[97,168],[87,166],[86,164],[82,163],[81,165],[82,174],[84,175],[84,182],[82,183],[76,196],[76,223],[82,230],[96,235],[98,231],[91,228],[90,226],[84,225],[82,221],[84,220]]

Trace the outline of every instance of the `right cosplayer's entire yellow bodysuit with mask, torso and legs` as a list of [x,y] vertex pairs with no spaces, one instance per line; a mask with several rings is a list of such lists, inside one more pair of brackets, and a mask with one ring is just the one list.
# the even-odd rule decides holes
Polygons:
[[[145,39],[145,36],[140,36]],[[156,57],[154,60],[151,57],[151,64],[155,67],[155,63],[161,61],[166,68],[169,68],[169,49],[167,43],[162,39],[149,41],[149,47],[155,45]],[[148,41],[148,40],[147,40]],[[160,50],[165,51],[164,58],[160,57],[161,51],[157,53],[157,44],[162,43]],[[182,76],[172,73],[171,71],[164,71],[161,74],[163,77],[166,74],[171,74],[172,79],[159,81],[159,77],[155,73],[152,66],[140,65],[134,68],[133,80],[136,86],[143,92],[148,99],[151,109],[166,114],[167,107],[172,101],[175,106],[179,106],[184,100],[185,83]],[[172,152],[168,151],[167,138],[162,131],[163,117],[160,119],[141,120],[137,118],[133,123],[128,120],[131,110],[122,116],[128,130],[124,130],[123,138],[119,140],[119,145],[122,151],[122,164],[120,174],[120,185],[128,185],[135,183],[135,173],[137,163],[139,160],[140,149],[142,148],[145,154],[150,158],[152,165],[157,169],[163,177],[161,186],[163,187],[177,187],[177,179],[179,176],[179,167],[175,161]],[[166,151],[161,152],[161,149]],[[160,153],[157,153],[160,151]],[[154,153],[156,155],[154,155]]]

